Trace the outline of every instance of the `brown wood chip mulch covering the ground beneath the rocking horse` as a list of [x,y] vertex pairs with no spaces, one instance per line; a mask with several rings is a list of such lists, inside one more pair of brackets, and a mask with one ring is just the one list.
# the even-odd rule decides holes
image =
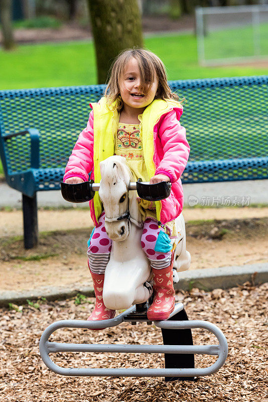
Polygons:
[[[215,374],[196,382],[165,382],[162,377],[65,377],[50,371],[39,355],[44,329],[62,319],[84,320],[93,309],[93,298],[0,309],[0,400],[9,402],[76,401],[247,401],[268,402],[267,299],[268,283],[249,283],[229,290],[179,292],[189,319],[216,324],[225,334],[229,353]],[[77,300],[77,299],[76,299]],[[193,330],[195,344],[215,344],[205,330]],[[50,340],[73,343],[161,344],[160,329],[140,323],[125,323],[102,331],[59,330]],[[161,354],[53,354],[64,367],[164,367]],[[205,367],[215,356],[196,356],[196,366]]]

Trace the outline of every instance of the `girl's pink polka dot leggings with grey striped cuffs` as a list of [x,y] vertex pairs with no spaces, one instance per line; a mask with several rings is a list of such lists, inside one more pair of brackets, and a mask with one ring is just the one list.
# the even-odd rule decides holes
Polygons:
[[[95,226],[88,241],[88,264],[90,271],[95,274],[103,274],[109,261],[111,251],[111,239],[108,238],[104,227],[105,213],[99,217],[98,224]],[[152,268],[163,269],[170,265],[171,251],[156,251],[156,243],[160,232],[164,232],[163,228],[159,228],[156,221],[148,218],[144,222],[144,229],[141,239],[141,245],[151,262]],[[165,235],[167,237],[167,235]],[[169,241],[169,240],[168,240]]]

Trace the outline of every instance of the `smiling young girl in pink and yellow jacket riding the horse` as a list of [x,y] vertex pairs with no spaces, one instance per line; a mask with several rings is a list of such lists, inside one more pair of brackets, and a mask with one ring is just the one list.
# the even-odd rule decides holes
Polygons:
[[[134,180],[151,184],[171,181],[168,198],[150,203],[139,199],[144,229],[141,245],[154,275],[154,301],[148,319],[165,320],[174,310],[171,238],[177,237],[175,218],[182,212],[183,189],[180,176],[190,147],[178,96],[171,92],[163,62],[144,49],[123,51],[115,60],[104,97],[90,105],[87,127],[81,132],[66,166],[64,181],[80,183],[91,178],[100,181],[99,163],[111,155],[126,158]],[[108,238],[98,192],[90,202],[95,228],[88,241],[88,266],[96,305],[88,320],[113,318],[115,311],[102,301],[104,272],[109,260]]]

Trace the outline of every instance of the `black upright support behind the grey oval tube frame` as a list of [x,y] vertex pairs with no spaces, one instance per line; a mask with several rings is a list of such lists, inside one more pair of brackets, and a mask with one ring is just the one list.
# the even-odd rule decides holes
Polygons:
[[[186,311],[183,309],[170,321],[188,321]],[[164,345],[193,345],[191,329],[173,330],[161,329]],[[165,353],[165,368],[194,368],[194,354]],[[165,377],[165,381],[195,381],[196,377]]]

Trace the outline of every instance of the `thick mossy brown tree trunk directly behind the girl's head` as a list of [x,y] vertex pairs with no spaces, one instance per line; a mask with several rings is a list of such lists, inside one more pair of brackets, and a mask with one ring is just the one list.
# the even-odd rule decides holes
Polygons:
[[114,58],[124,49],[143,47],[137,0],[87,0],[95,43],[98,83],[106,82]]

